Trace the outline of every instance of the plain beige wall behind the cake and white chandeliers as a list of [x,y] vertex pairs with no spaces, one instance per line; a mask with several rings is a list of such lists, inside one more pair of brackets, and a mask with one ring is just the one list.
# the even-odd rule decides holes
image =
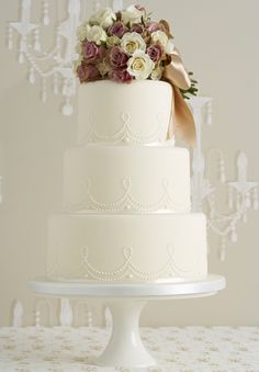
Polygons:
[[[75,145],[76,129],[76,117],[63,117],[56,99],[50,97],[45,105],[40,102],[37,90],[24,80],[25,69],[4,48],[5,24],[16,19],[18,3],[0,5],[0,326],[10,324],[14,298],[24,304],[25,323],[32,323],[35,297],[27,280],[44,273],[46,222],[61,210],[63,153]],[[235,176],[236,153],[244,149],[249,174],[259,181],[259,2],[142,3],[170,21],[174,42],[200,80],[201,94],[213,97],[213,126],[204,128],[205,149],[222,148],[229,178]],[[258,222],[259,213],[251,212],[224,263],[217,260],[215,241],[210,244],[210,271],[226,277],[227,290],[210,298],[154,302],[144,311],[143,324],[258,325]]]

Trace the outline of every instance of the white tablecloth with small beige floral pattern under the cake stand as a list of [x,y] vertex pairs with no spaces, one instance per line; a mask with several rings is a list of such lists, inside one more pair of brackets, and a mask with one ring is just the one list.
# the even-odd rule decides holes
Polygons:
[[[0,328],[0,371],[135,372],[92,365],[109,335],[91,327]],[[159,363],[148,372],[259,372],[259,327],[142,328],[142,337]]]

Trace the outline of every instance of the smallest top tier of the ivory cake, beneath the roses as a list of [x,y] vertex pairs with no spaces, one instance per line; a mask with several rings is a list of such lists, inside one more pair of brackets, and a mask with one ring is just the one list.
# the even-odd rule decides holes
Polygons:
[[77,140],[88,143],[147,145],[167,139],[172,88],[164,81],[120,84],[94,81],[78,93]]

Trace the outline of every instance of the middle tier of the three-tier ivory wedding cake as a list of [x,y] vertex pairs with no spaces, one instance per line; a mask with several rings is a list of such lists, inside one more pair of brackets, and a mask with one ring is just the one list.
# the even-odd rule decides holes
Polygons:
[[66,212],[190,212],[190,157],[172,146],[88,145],[66,151]]

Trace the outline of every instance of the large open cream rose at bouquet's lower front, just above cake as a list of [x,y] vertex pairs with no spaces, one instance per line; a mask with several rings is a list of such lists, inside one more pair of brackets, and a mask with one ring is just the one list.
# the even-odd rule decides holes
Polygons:
[[155,68],[154,61],[143,50],[136,50],[127,61],[127,71],[136,78],[136,80],[147,79]]

